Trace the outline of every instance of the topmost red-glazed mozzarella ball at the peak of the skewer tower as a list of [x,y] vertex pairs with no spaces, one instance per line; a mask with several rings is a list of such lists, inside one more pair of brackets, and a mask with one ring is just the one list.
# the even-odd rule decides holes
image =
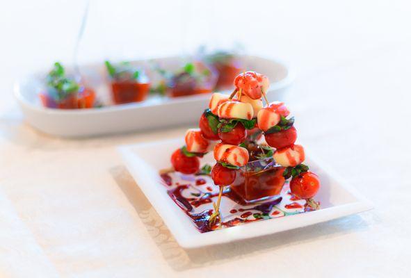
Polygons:
[[234,79],[234,86],[251,99],[261,99],[269,85],[268,77],[257,72],[244,72]]

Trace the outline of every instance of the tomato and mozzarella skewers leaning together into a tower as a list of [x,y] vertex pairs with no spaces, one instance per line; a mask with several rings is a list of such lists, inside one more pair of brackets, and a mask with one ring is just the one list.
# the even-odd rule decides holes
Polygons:
[[[307,209],[319,208],[319,203],[312,199],[319,190],[319,178],[302,164],[305,152],[303,146],[295,144],[297,132],[288,108],[279,101],[268,103],[268,85],[268,78],[257,72],[244,72],[236,76],[234,92],[229,96],[213,93],[209,108],[200,117],[200,128],[188,129],[186,145],[175,150],[171,156],[175,171],[195,174],[200,170],[199,158],[213,150],[216,164],[211,170],[211,178],[216,186],[220,186],[220,192],[209,219],[210,224],[220,218],[224,186],[233,186],[241,170],[248,168],[249,161],[258,159],[274,160],[280,172],[271,173],[262,169],[257,174],[265,172],[272,175],[270,183],[274,181],[280,189],[284,181],[291,178],[291,193],[306,199]],[[266,101],[265,106],[261,98]],[[255,180],[253,183],[256,183]]]

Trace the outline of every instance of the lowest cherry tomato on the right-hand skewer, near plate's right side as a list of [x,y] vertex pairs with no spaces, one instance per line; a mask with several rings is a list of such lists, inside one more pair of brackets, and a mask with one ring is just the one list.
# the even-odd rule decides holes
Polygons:
[[293,177],[290,182],[290,190],[300,199],[309,199],[316,195],[320,188],[320,179],[313,172],[303,172]]

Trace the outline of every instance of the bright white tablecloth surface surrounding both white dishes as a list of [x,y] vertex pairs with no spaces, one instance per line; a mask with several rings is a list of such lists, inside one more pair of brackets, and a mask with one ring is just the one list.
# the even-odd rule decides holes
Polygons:
[[[119,52],[167,55],[204,38],[223,45],[224,34],[243,40],[253,54],[288,60],[298,74],[287,96],[298,140],[375,209],[272,236],[183,250],[115,146],[182,136],[187,126],[67,140],[25,124],[11,97],[13,81],[56,59],[70,62],[77,27],[74,34],[72,29],[84,2],[15,1],[0,10],[0,276],[409,277],[411,6],[406,1],[255,1],[253,6],[225,1],[217,9],[217,1],[188,2],[92,2],[81,61]],[[153,20],[159,5],[166,9],[156,12],[154,18],[161,20]],[[179,21],[168,13],[173,8],[193,14]],[[195,12],[202,9],[211,10],[215,20],[198,19]],[[194,18],[195,28],[186,22]],[[207,26],[223,18],[219,31]],[[141,30],[140,39],[152,41],[138,44],[127,37],[135,25],[124,21],[142,26],[146,19],[150,32],[161,35]],[[108,45],[104,34],[110,32],[124,41]],[[134,48],[127,47],[131,44]]]

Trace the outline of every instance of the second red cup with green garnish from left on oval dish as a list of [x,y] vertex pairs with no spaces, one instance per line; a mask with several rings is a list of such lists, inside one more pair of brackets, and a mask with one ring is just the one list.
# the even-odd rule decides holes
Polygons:
[[128,62],[112,64],[105,62],[115,104],[127,104],[147,99],[150,81],[145,72],[137,70]]

